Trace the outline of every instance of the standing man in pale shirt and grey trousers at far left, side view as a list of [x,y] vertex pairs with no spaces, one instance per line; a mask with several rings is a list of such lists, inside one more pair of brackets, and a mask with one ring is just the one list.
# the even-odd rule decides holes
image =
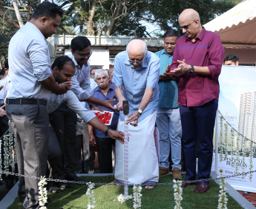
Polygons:
[[[20,161],[24,156],[24,174],[28,176],[45,176],[49,138],[46,104],[50,93],[66,93],[72,85],[71,82],[56,84],[45,42],[56,33],[62,14],[62,8],[44,1],[9,44],[10,88],[5,106],[10,126],[18,136],[17,157]],[[23,169],[18,166],[19,170]],[[38,179],[25,179],[23,208],[39,208],[38,183]]]

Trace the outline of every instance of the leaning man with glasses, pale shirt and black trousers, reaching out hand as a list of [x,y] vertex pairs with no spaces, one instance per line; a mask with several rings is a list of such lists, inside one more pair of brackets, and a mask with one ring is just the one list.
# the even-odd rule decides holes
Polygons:
[[[111,106],[111,102],[114,102],[114,100],[101,101],[92,96],[90,82],[91,67],[88,62],[91,56],[91,42],[89,39],[85,36],[76,36],[76,38],[72,39],[70,47],[72,54],[68,56],[76,65],[76,73],[71,79],[73,93],[76,94],[81,102],[88,102],[92,110],[101,110],[96,105],[115,110],[115,108]],[[65,104],[62,104],[57,110],[51,113],[50,116],[53,116],[51,123],[58,138],[62,153],[64,154],[64,170],[57,169],[56,178],[82,182],[82,180],[76,176],[78,162],[76,159],[76,142],[73,141],[73,139],[76,138],[76,113],[70,110]],[[59,167],[61,166],[62,165],[59,165]]]

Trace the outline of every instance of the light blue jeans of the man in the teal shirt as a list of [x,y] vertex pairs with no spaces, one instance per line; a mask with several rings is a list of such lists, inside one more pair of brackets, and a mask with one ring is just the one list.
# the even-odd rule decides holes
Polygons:
[[181,169],[181,136],[182,128],[180,110],[157,107],[157,128],[160,132],[160,166],[168,168],[168,156],[171,147],[172,169]]

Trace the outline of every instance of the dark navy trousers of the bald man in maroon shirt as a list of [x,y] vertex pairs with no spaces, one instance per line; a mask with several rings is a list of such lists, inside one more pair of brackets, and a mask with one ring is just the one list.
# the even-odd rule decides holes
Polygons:
[[[217,99],[213,99],[200,107],[180,105],[187,180],[210,178],[213,154],[212,140],[217,107]],[[197,139],[199,142],[198,173],[196,173]],[[209,182],[204,183],[209,184]]]

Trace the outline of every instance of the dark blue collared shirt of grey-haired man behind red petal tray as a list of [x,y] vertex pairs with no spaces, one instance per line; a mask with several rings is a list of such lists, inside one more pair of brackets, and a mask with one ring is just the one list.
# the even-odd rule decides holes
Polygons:
[[[105,96],[105,94],[102,93],[102,90],[100,90],[99,87],[97,86],[96,88],[93,89],[93,96],[102,101],[111,100],[111,99],[113,99],[113,96],[115,96],[115,89],[116,89],[116,86],[114,84],[110,84],[107,96]],[[114,106],[117,103],[118,103],[118,100],[116,99],[115,102],[111,102],[111,105]],[[88,110],[91,110],[88,103],[86,103],[85,107]],[[106,107],[103,107],[100,105],[98,105],[98,107],[105,111],[113,112],[113,110],[109,110]],[[116,130],[118,119],[119,119],[119,111],[114,111],[114,116],[113,116],[111,125],[109,125],[109,127],[111,127],[112,130]],[[102,131],[97,130],[97,129],[96,129],[96,136],[98,136],[99,138],[110,138],[110,136],[105,136],[105,133],[103,133]]]

